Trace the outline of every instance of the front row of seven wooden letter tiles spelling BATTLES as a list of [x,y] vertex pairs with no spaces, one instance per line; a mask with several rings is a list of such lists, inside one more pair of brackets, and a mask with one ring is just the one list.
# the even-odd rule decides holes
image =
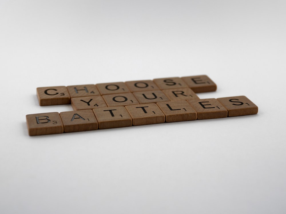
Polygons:
[[246,96],[175,100],[26,115],[30,136],[257,114]]

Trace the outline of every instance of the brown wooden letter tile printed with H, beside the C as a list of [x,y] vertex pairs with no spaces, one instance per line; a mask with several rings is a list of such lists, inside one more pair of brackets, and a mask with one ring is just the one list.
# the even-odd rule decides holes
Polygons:
[[67,86],[69,95],[72,97],[84,97],[84,96],[98,96],[100,95],[95,85],[72,85]]

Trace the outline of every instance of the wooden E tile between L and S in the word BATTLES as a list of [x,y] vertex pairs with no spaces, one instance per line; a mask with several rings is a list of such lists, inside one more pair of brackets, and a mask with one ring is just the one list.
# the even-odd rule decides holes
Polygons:
[[198,113],[198,120],[227,117],[227,109],[214,98],[187,101]]

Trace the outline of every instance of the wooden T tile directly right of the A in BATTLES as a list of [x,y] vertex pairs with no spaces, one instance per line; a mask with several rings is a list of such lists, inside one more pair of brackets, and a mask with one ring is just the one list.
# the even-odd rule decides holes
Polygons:
[[124,106],[93,109],[100,129],[132,126],[132,118]]

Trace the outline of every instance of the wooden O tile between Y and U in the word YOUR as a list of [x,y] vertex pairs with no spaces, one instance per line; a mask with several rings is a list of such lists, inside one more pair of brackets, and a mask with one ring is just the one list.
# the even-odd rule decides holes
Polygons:
[[106,94],[102,96],[108,107],[139,104],[132,93]]

